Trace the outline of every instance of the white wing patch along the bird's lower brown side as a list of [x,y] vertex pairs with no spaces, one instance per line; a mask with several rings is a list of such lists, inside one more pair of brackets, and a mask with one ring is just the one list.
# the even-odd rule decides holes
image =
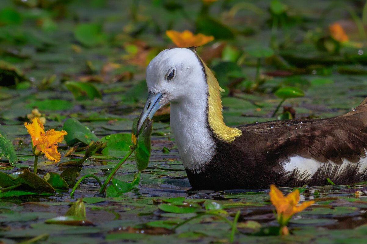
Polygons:
[[[356,164],[356,163],[351,163],[346,159],[344,159],[342,164],[336,164],[334,162],[328,162],[328,163],[332,163],[335,167],[340,167],[339,168],[340,170],[344,169],[349,164],[352,164],[352,165]],[[290,162],[284,166],[284,171],[291,172],[296,169],[296,170],[299,170],[300,173],[305,172],[305,173],[310,174],[310,177],[312,177],[312,175],[315,174],[316,171],[321,166],[324,166],[324,165],[325,163],[318,162],[312,158],[303,158],[301,156],[294,156],[294,157],[291,157]],[[366,170],[366,168],[367,168],[367,158],[361,158],[359,171],[364,171]]]

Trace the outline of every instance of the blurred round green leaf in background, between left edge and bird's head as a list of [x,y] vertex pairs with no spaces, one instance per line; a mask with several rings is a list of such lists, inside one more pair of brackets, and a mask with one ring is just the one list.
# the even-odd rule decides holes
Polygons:
[[84,23],[77,25],[74,36],[81,44],[87,47],[95,47],[106,40],[106,34],[102,32],[102,26],[97,23]]

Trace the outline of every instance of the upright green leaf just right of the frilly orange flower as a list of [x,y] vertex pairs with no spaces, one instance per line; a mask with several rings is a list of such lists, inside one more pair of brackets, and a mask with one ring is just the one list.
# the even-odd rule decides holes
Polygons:
[[80,141],[84,144],[89,144],[92,141],[99,140],[98,137],[90,131],[90,129],[82,125],[75,118],[67,119],[62,129],[68,132],[64,137],[68,145],[74,145]]

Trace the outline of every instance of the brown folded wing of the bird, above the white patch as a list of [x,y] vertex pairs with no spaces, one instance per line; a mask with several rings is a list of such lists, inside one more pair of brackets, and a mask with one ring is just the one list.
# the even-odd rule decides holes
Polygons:
[[355,110],[335,118],[271,121],[239,128],[244,139],[247,134],[254,140],[253,149],[270,161],[287,161],[299,155],[325,163],[342,164],[344,159],[359,162],[366,157],[367,99]]

